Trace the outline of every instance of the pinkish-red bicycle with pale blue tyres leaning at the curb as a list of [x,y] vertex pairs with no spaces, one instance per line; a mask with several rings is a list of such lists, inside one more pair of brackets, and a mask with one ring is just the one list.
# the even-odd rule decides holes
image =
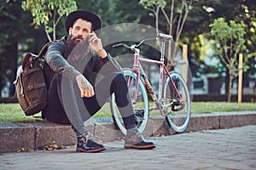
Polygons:
[[[146,59],[140,55],[139,47],[143,42],[160,40],[160,61],[156,59]],[[183,77],[176,71],[168,71],[165,65],[165,42],[172,41],[172,36],[159,33],[157,37],[143,39],[138,44],[128,46],[125,43],[113,45],[113,48],[125,47],[131,49],[134,55],[133,68],[124,68],[124,76],[127,80],[127,86],[131,95],[132,104],[137,115],[137,127],[142,133],[148,122],[148,112],[159,110],[161,116],[166,117],[168,126],[177,133],[183,133],[189,126],[191,115],[191,102],[189,90]],[[154,88],[150,84],[141,62],[160,65],[160,81],[158,97]],[[148,91],[147,91],[147,90]],[[148,94],[154,101],[154,106],[148,106]],[[126,134],[125,126],[115,104],[114,94],[110,98],[110,109],[113,116],[113,122],[116,127]]]

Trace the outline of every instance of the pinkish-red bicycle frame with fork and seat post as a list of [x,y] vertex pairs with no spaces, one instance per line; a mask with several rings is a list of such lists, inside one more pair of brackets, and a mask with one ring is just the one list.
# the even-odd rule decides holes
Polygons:
[[[172,81],[171,75],[170,75],[169,71],[167,70],[166,65],[164,63],[165,62],[165,56],[164,56],[165,42],[161,41],[160,61],[155,60],[155,59],[141,58],[140,57],[140,50],[138,48],[133,48],[133,50],[134,50],[134,64],[133,64],[132,71],[135,71],[136,74],[137,74],[135,93],[137,94],[139,78],[143,77],[143,80],[145,82],[145,86],[148,89],[148,93],[150,94],[151,98],[154,100],[154,102],[156,104],[154,107],[150,108],[149,111],[160,110],[160,114],[162,116],[166,116],[166,114],[164,113],[164,110],[166,109],[166,107],[172,106],[173,103],[170,103],[170,104],[166,105],[166,104],[163,104],[162,102],[160,102],[160,100],[162,99],[162,85],[163,85],[163,82],[164,82],[164,76],[167,75],[170,78],[172,88],[174,89],[178,98],[182,100],[182,97],[178,93],[177,87],[176,87],[175,83]],[[145,71],[143,70],[143,67],[141,65],[141,61],[146,62],[146,63],[150,63],[150,64],[160,65],[160,81],[159,81],[159,93],[158,93],[159,95],[158,95],[158,98],[157,98],[156,94],[154,93],[154,88],[151,86],[151,84],[148,81],[148,77],[145,74]],[[131,81],[128,80],[128,87],[129,88],[130,88],[130,85],[131,85]],[[136,95],[135,101],[137,101],[137,95]]]

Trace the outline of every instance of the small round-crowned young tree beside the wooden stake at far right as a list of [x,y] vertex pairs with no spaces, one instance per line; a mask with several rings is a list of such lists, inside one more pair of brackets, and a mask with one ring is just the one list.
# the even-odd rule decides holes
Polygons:
[[231,98],[232,79],[236,77],[236,65],[238,54],[244,50],[246,31],[244,25],[230,20],[230,25],[220,17],[210,25],[211,34],[214,38],[215,50],[219,58],[229,70],[230,83],[228,92],[228,102]]

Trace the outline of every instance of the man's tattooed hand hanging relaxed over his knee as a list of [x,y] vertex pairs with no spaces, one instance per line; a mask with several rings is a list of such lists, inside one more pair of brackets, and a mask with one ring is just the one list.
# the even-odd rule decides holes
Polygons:
[[77,76],[76,81],[79,85],[82,98],[83,97],[90,98],[95,95],[93,87],[83,75]]

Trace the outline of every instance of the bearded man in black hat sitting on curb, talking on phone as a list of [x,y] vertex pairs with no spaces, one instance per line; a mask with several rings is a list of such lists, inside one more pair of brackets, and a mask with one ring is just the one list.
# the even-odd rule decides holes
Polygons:
[[[127,129],[125,148],[154,148],[154,143],[138,135],[125,77],[97,37],[102,20],[87,11],[74,11],[67,16],[65,27],[68,36],[51,43],[45,54],[44,75],[49,94],[43,117],[51,122],[70,123],[78,137],[77,151],[102,151],[105,147],[92,139],[84,122],[115,94]],[[103,77],[93,79],[93,73]]]

